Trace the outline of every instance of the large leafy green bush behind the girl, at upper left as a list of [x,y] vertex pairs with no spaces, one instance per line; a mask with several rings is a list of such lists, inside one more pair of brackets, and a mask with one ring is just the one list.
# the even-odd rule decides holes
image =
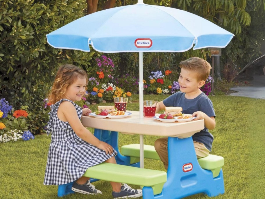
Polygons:
[[97,56],[55,49],[46,34],[83,16],[84,0],[0,0],[0,96],[14,109],[28,106],[31,132],[40,133],[48,120],[43,100],[60,64],[73,63],[89,71]]

